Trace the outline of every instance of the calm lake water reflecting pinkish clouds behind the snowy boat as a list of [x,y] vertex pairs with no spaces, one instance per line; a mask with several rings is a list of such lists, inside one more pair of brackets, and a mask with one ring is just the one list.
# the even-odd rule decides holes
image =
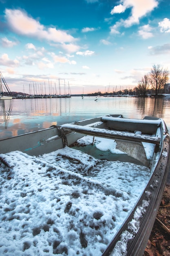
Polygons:
[[12,99],[0,101],[0,139],[106,114],[163,118],[170,131],[168,97],[156,100],[133,97]]

